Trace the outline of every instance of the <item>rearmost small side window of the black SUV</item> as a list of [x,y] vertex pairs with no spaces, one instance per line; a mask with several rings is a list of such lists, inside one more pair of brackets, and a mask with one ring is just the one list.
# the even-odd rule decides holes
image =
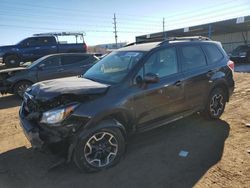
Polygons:
[[204,49],[207,55],[208,64],[217,63],[224,57],[223,54],[215,45],[202,45],[202,48]]

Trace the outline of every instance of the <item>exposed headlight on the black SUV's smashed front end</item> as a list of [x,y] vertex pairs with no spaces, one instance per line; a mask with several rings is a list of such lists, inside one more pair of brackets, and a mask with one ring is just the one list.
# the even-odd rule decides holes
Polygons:
[[62,122],[66,117],[68,117],[76,107],[77,104],[74,104],[69,105],[65,108],[59,108],[44,112],[40,122],[46,124],[55,124],[56,126],[57,123]]

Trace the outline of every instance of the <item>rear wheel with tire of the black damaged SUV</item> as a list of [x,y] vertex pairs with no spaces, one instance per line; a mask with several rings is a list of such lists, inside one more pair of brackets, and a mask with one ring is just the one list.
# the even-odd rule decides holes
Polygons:
[[226,106],[226,93],[222,88],[215,88],[209,95],[203,115],[207,119],[219,119]]

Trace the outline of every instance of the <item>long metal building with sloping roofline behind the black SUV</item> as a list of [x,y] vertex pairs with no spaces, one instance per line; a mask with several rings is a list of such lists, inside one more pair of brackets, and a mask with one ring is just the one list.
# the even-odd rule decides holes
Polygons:
[[227,52],[239,45],[250,43],[250,16],[213,22],[204,25],[181,28],[136,37],[136,42],[161,40],[166,37],[208,36],[220,41]]

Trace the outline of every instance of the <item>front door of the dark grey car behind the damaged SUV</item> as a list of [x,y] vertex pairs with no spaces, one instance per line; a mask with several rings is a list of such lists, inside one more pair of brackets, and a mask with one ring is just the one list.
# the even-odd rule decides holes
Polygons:
[[38,81],[63,77],[60,56],[50,56],[37,66]]

